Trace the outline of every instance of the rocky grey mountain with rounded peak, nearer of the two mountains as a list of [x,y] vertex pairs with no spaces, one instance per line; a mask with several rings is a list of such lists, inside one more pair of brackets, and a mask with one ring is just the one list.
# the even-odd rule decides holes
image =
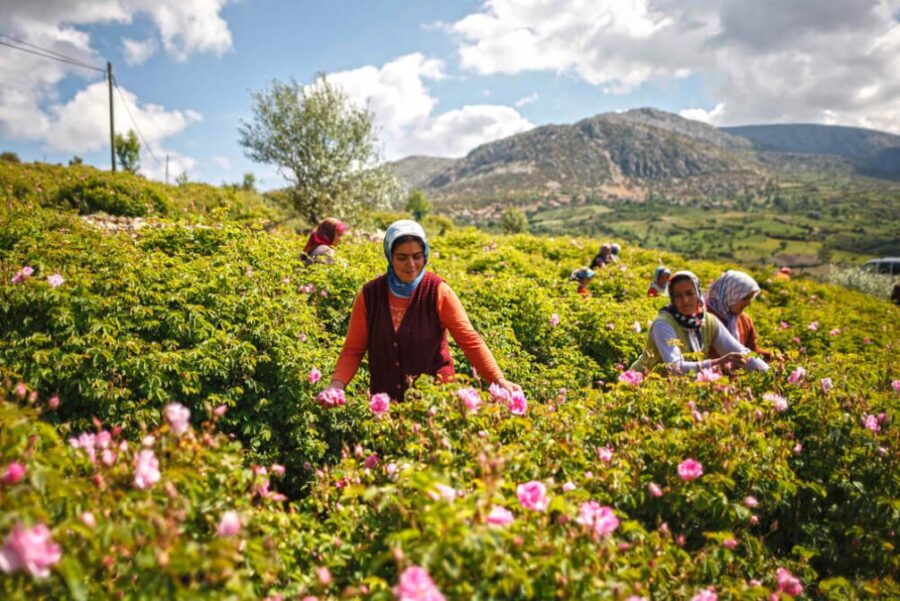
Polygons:
[[[555,197],[641,199],[652,192],[721,195],[761,186],[767,170],[751,143],[655,109],[545,125],[483,144],[441,164],[392,164],[408,185],[438,201],[483,204]],[[434,169],[434,171],[432,171]],[[415,182],[415,183],[413,183]]]

